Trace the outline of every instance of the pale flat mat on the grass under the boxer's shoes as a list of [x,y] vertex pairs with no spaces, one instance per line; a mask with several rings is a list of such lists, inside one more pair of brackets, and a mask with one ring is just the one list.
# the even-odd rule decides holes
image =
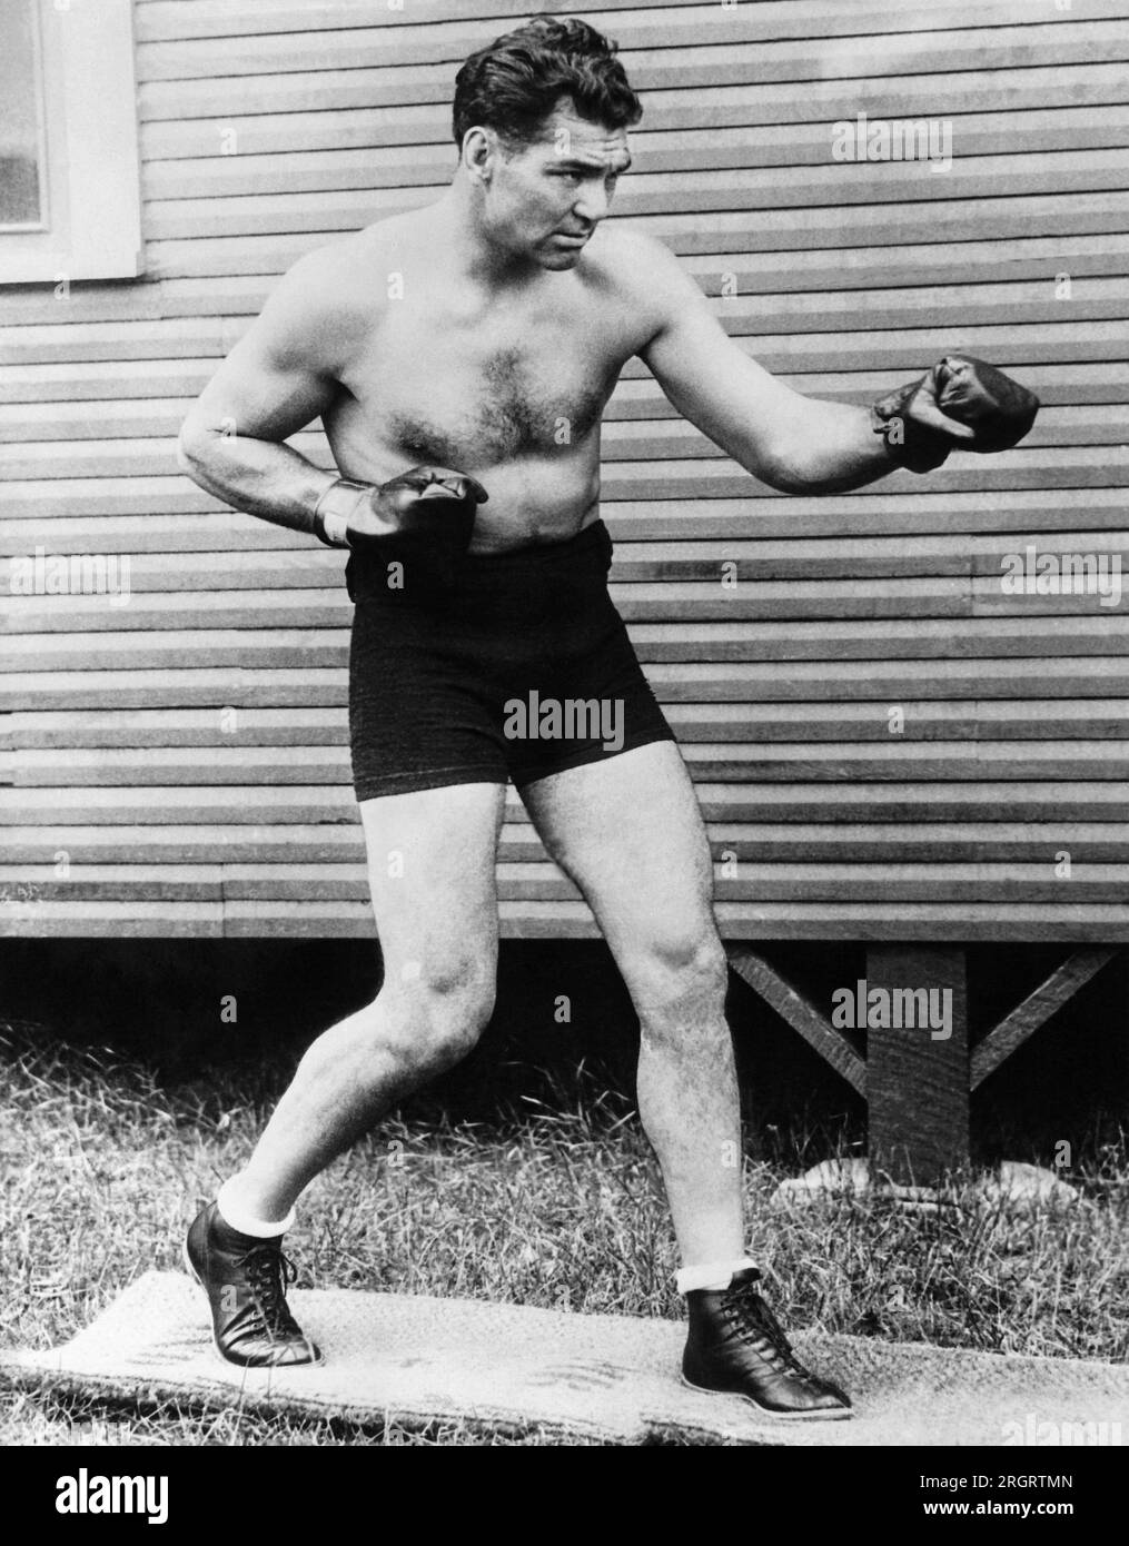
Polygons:
[[294,1289],[294,1313],[326,1362],[238,1370],[210,1340],[200,1289],[147,1272],[71,1342],[0,1351],[0,1377],[26,1390],[254,1411],[394,1419],[461,1418],[521,1435],[648,1444],[1124,1444],[1129,1368],[968,1353],[869,1337],[795,1336],[801,1359],[851,1391],[851,1422],[773,1422],[733,1396],[679,1384],[676,1322],[582,1316],[464,1299]]

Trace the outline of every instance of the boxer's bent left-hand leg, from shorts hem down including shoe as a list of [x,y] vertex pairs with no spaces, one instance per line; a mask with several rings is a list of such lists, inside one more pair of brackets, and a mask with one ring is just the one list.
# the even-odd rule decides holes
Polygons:
[[278,1240],[305,1186],[394,1101],[458,1062],[493,1006],[501,784],[363,801],[384,985],[306,1051],[241,1175],[196,1218],[189,1266],[241,1364],[309,1362]]

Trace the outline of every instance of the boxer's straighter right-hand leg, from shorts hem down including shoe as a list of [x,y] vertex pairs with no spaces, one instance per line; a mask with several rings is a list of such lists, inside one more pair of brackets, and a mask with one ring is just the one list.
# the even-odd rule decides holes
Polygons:
[[742,1252],[725,952],[708,841],[677,747],[662,741],[568,768],[523,798],[595,914],[639,1014],[639,1115],[685,1263],[684,1379],[776,1418],[851,1416],[844,1391],[793,1357]]

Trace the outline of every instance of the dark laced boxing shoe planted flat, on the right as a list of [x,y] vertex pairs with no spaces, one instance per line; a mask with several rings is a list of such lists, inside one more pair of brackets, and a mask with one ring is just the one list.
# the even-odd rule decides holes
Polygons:
[[745,1268],[728,1288],[687,1294],[690,1336],[682,1384],[744,1396],[772,1418],[851,1418],[851,1398],[798,1364],[781,1325]]

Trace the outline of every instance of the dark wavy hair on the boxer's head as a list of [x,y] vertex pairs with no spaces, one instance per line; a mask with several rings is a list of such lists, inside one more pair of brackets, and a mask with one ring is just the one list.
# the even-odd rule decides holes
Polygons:
[[580,117],[626,128],[643,116],[628,85],[617,45],[575,17],[538,15],[496,37],[455,77],[455,144],[475,125],[493,128],[507,147],[537,139],[561,97]]

